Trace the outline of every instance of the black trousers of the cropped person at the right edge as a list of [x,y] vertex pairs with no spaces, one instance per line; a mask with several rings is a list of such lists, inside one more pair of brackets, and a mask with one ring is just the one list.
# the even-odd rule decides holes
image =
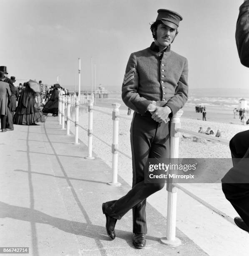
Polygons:
[[[237,133],[231,139],[229,146],[233,167],[221,179],[222,190],[226,199],[249,226],[249,131]],[[241,159],[243,157],[244,159]],[[237,183],[226,183],[228,181]]]

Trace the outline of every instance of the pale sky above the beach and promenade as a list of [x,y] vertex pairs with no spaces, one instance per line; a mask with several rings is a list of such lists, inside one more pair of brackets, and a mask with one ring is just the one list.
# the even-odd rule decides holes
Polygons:
[[[29,79],[121,89],[128,58],[153,41],[150,23],[166,8],[183,16],[171,46],[189,61],[189,88],[247,88],[235,28],[243,0],[1,0],[1,66]],[[16,84],[17,86],[18,84]],[[93,85],[94,86],[94,85]],[[222,95],[220,95],[222,96]]]

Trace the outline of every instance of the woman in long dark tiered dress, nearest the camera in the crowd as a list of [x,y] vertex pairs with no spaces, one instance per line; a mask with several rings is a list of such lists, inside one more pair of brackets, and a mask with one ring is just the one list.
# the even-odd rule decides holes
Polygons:
[[26,87],[22,91],[18,106],[15,110],[13,123],[18,125],[35,125],[38,122],[45,122],[44,115],[38,108],[38,99],[35,90],[30,88],[30,82],[26,82]]

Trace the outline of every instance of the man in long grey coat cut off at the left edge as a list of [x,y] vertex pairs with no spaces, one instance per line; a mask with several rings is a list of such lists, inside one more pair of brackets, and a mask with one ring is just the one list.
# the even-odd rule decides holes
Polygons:
[[5,79],[5,73],[0,71],[0,117],[1,117],[1,129],[2,132],[6,132],[6,117],[8,108],[8,96],[10,97],[10,86],[7,82],[3,82]]

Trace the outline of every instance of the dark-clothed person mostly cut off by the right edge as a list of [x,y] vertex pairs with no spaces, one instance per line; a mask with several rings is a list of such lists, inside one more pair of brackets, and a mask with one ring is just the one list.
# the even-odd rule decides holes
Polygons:
[[[249,0],[239,8],[236,24],[236,45],[241,64],[249,67]],[[240,217],[235,217],[236,225],[249,232],[249,130],[237,133],[229,146],[233,167],[221,179],[222,190]]]

